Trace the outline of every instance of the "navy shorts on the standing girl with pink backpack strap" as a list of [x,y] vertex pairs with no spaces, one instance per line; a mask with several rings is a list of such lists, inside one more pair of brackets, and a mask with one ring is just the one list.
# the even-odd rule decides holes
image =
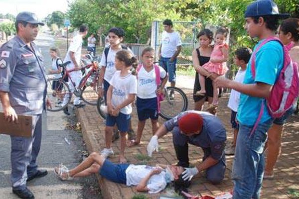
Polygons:
[[139,121],[143,121],[148,118],[158,119],[157,98],[141,99],[137,97],[136,106]]

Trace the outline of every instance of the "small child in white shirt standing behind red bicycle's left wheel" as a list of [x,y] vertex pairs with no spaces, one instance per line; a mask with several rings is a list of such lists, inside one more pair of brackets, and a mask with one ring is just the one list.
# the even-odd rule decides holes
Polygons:
[[[50,56],[52,58],[52,67],[49,69],[49,74],[54,74],[54,78],[62,78],[61,72],[62,68],[58,64],[62,64],[62,60],[59,58],[59,51],[56,47],[51,47],[49,50]],[[60,98],[57,103],[61,103],[63,96],[61,94],[62,86],[58,81],[53,81],[52,90],[56,92],[56,95]]]

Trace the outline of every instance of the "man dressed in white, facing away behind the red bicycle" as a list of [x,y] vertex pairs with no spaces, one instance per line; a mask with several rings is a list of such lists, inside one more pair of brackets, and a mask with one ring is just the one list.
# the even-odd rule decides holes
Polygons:
[[[86,37],[88,33],[88,27],[86,25],[81,25],[79,28],[79,34],[74,36],[70,47],[66,53],[63,62],[70,61],[71,63],[67,65],[67,70],[75,69],[75,71],[71,72],[69,75],[72,81],[75,83],[76,86],[80,84],[82,79],[82,72],[80,71],[80,60],[81,60],[81,50],[82,50],[82,42],[83,38]],[[74,86],[71,81],[68,82],[71,92],[74,92]],[[67,98],[70,98],[69,95],[65,95],[63,104],[67,102]],[[76,107],[82,107],[84,104],[81,103],[79,97],[74,98],[74,105]],[[69,114],[67,107],[63,110],[64,113]]]

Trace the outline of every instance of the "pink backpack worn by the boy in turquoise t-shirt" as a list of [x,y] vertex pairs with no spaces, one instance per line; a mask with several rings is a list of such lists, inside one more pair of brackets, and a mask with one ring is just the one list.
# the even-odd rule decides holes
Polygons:
[[[254,51],[251,61],[251,73],[253,79],[255,79],[255,56],[259,49],[269,41],[278,41],[284,49],[284,66],[276,80],[270,97],[266,99],[267,108],[270,115],[273,118],[283,116],[283,114],[289,110],[295,103],[299,95],[299,73],[298,65],[292,62],[288,48],[277,37],[270,37],[263,41],[259,47]],[[256,129],[260,119],[262,118],[264,111],[264,103],[258,116],[258,119],[252,129],[252,132]]]

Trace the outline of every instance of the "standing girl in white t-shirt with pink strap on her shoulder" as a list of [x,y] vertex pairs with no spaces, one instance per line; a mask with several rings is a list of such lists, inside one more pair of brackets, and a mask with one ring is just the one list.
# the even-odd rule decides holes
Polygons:
[[[150,118],[152,135],[159,127],[158,123],[158,100],[167,82],[167,74],[162,67],[154,65],[154,50],[147,47],[142,52],[142,64],[137,67],[137,113],[138,130],[136,140],[128,142],[128,146],[137,145],[141,142],[146,120]],[[159,79],[157,79],[159,76]],[[162,79],[162,81],[161,81]]]

